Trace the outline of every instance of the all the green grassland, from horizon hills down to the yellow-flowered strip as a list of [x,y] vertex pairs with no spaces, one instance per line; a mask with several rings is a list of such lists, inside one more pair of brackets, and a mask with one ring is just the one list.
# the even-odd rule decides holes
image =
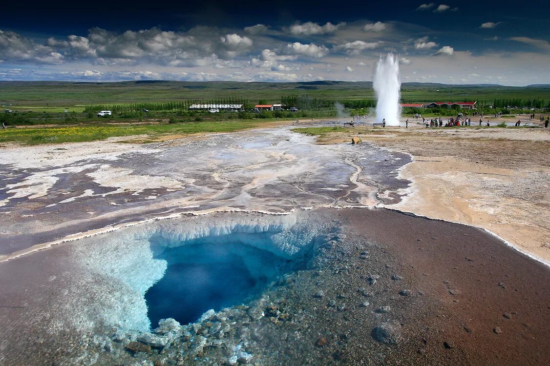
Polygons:
[[[307,108],[300,112],[240,112],[215,113],[186,110],[183,103],[223,103],[223,98],[245,99],[252,107],[260,99],[267,103],[281,102],[281,97],[307,95]],[[34,128],[0,130],[0,142],[25,144],[79,142],[103,140],[114,136],[162,134],[193,134],[197,132],[230,132],[261,126],[274,118],[312,119],[335,118],[334,102],[347,106],[351,115],[371,112],[375,99],[371,82],[314,81],[294,83],[273,82],[185,82],[185,81],[127,81],[127,82],[0,82],[2,113],[0,120],[7,126],[45,125]],[[240,100],[239,99],[239,100]],[[492,103],[494,99],[538,99],[550,102],[550,86],[505,87],[498,85],[465,86],[405,83],[401,85],[403,102],[477,101]],[[178,102],[178,103],[173,103]],[[141,112],[136,103],[152,103],[150,112]],[[171,110],[165,110],[171,103]],[[133,104],[134,109],[129,108]],[[96,117],[97,108],[111,106],[112,116]],[[182,107],[183,106],[183,107]],[[86,109],[87,108],[87,109]],[[179,108],[179,110],[175,109]],[[250,107],[247,107],[250,108]],[[350,107],[353,108],[353,107]],[[484,107],[486,117],[495,110]],[[68,113],[64,113],[67,110]],[[423,117],[450,117],[460,112],[453,109],[403,110],[406,118],[420,112]],[[466,112],[466,111],[463,111]],[[530,113],[530,110],[505,110],[504,113]],[[547,112],[548,113],[548,112]],[[470,114],[471,115],[471,114]],[[511,117],[511,116],[510,116]],[[343,117],[342,119],[346,119]],[[168,123],[170,121],[171,123]],[[332,127],[299,129],[312,135],[328,133]]]

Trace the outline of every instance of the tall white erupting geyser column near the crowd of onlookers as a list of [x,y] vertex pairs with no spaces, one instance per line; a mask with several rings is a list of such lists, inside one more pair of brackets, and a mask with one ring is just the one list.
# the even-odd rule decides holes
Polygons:
[[376,64],[373,87],[376,92],[376,121],[386,119],[389,126],[399,125],[399,58],[388,53],[386,58],[382,55]]

